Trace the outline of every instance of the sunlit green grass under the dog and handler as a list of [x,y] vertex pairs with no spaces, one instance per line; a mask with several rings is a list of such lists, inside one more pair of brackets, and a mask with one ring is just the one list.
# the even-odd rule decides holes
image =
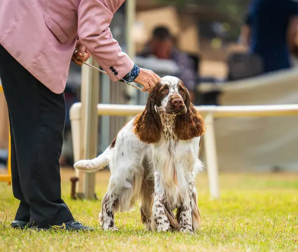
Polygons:
[[[74,217],[93,233],[32,232],[10,228],[18,206],[11,187],[0,183],[0,251],[298,251],[297,174],[221,174],[221,199],[210,200],[206,174],[196,187],[202,226],[193,235],[146,232],[136,206],[116,214],[119,232],[103,232],[97,216],[100,201],[70,199],[71,170],[62,171],[63,198]],[[96,193],[101,200],[109,173],[96,174]]]

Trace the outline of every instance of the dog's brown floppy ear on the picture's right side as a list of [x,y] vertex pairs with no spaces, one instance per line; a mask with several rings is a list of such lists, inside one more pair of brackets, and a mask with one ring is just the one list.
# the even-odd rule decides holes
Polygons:
[[202,136],[205,133],[205,123],[202,116],[190,102],[190,96],[185,89],[184,103],[187,108],[186,114],[177,115],[175,118],[175,134],[180,140],[189,140]]

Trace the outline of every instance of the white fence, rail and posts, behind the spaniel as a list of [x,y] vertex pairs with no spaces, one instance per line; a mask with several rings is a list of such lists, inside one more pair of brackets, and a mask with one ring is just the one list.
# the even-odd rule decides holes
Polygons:
[[[143,105],[97,104],[97,114],[109,116],[134,116],[142,112]],[[254,105],[254,106],[196,106],[205,118],[206,134],[203,137],[206,153],[206,163],[209,179],[209,189],[212,198],[220,197],[218,162],[215,141],[214,118],[223,117],[275,117],[298,115],[298,104],[287,105]],[[81,103],[75,103],[70,110],[72,122],[74,161],[80,154],[80,121]]]

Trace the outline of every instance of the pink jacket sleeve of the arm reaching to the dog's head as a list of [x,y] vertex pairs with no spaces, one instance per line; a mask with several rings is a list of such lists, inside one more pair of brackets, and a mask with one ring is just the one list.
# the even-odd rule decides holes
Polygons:
[[81,0],[78,10],[78,39],[107,72],[112,81],[126,76],[134,67],[113,39],[109,25],[123,0]]

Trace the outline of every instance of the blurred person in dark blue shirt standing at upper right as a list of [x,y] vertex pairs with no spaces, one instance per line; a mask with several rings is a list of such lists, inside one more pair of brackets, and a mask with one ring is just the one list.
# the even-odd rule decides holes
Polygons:
[[252,0],[250,3],[241,40],[251,54],[261,57],[264,73],[291,68],[288,27],[297,17],[298,2],[293,0]]

